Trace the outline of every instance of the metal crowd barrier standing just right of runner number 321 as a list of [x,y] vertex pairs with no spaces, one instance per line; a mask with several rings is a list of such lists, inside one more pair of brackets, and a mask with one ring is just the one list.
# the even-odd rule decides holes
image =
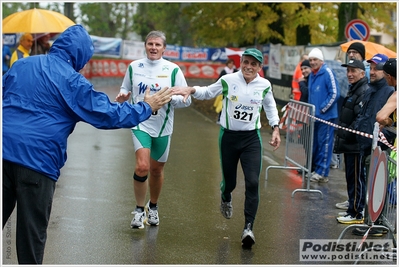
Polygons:
[[295,189],[292,197],[296,192],[313,192],[319,193],[323,198],[320,190],[310,189],[315,106],[291,100],[285,108],[285,114],[280,121],[280,128],[287,131],[284,165],[267,167],[266,180],[270,169],[301,170],[302,183],[306,182],[306,189]]

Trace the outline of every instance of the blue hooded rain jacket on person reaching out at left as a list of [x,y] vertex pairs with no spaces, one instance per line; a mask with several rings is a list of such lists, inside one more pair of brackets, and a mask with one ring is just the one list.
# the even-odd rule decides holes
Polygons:
[[74,25],[47,55],[17,60],[3,76],[3,159],[57,181],[76,123],[131,128],[151,116],[149,104],[113,103],[79,73],[93,55],[87,31]]

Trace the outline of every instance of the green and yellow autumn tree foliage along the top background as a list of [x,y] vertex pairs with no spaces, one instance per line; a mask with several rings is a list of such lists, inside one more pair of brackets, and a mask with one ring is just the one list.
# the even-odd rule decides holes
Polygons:
[[[60,10],[62,3],[49,2]],[[3,18],[38,3],[3,2]],[[345,25],[362,19],[370,28],[396,36],[396,2],[99,2],[74,3],[76,18],[90,34],[145,38],[165,32],[168,44],[183,46],[252,46],[262,43],[328,44],[345,39]],[[375,41],[370,39],[370,41]],[[396,51],[396,45],[390,49]]]

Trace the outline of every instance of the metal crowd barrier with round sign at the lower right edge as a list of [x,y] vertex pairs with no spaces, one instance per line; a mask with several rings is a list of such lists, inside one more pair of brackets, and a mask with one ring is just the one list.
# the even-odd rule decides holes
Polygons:
[[[375,125],[378,128],[378,123]],[[382,151],[377,146],[378,130],[374,131],[373,148],[370,158],[370,169],[367,177],[366,203],[364,208],[364,223],[351,224],[339,235],[337,243],[349,230],[355,228],[366,230],[362,238],[364,242],[371,229],[382,230],[384,239],[393,241],[391,254],[396,259],[396,224],[397,224],[397,160],[396,154]],[[375,238],[375,237],[374,237]],[[372,250],[369,248],[368,250]],[[368,250],[363,251],[366,253]],[[387,252],[384,252],[387,253]],[[393,258],[391,256],[391,258]],[[359,261],[358,259],[355,264]]]

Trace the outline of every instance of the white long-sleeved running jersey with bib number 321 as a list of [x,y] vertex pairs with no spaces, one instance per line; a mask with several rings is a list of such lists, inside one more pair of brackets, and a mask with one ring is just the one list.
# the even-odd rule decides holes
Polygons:
[[226,74],[209,86],[195,86],[192,95],[197,99],[211,99],[223,95],[220,125],[233,131],[250,131],[261,128],[260,114],[265,110],[269,125],[278,125],[279,117],[270,82],[259,76],[249,84],[241,71]]

